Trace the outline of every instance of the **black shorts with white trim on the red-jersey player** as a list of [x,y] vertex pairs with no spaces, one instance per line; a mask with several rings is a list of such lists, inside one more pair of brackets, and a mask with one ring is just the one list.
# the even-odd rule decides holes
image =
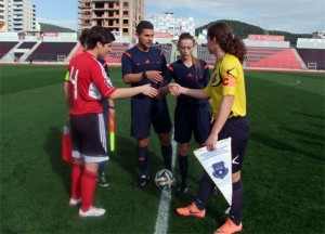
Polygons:
[[73,157],[84,162],[108,160],[103,114],[70,115]]

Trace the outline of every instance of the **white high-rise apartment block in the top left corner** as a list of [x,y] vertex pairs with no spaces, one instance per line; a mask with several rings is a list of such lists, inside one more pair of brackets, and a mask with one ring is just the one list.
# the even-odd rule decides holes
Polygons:
[[23,34],[36,30],[36,8],[29,0],[0,0],[0,29]]

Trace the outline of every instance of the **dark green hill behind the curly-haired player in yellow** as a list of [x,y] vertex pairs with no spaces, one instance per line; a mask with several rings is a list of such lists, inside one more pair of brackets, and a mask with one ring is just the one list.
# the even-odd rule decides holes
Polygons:
[[223,22],[230,25],[234,29],[234,32],[240,36],[243,39],[247,38],[248,35],[281,35],[281,36],[285,36],[285,40],[290,41],[291,46],[296,46],[298,38],[312,38],[311,34],[291,34],[288,31],[265,30],[255,25],[246,24],[238,21],[227,21],[227,20],[210,22],[202,27],[198,27],[195,29],[195,35],[197,36],[203,29],[207,29],[210,25],[216,24],[218,22]]

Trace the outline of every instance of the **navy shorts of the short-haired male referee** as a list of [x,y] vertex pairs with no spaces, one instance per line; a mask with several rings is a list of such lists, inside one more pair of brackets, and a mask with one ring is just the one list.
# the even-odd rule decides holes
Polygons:
[[136,139],[150,136],[151,125],[156,133],[168,133],[171,121],[166,98],[160,101],[147,96],[133,96],[131,99],[131,135]]

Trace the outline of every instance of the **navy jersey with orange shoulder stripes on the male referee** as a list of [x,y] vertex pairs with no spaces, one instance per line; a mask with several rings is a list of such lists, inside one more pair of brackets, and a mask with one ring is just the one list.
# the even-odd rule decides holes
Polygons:
[[[147,52],[139,50],[136,46],[127,50],[121,57],[122,76],[127,74],[140,74],[147,70],[160,70],[165,76],[167,65],[164,51],[156,47],[151,47]],[[159,83],[154,83],[150,79],[142,79],[139,82],[131,83],[131,87],[151,83],[158,88]]]

